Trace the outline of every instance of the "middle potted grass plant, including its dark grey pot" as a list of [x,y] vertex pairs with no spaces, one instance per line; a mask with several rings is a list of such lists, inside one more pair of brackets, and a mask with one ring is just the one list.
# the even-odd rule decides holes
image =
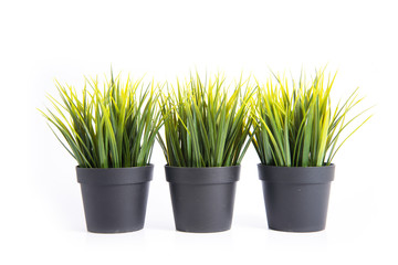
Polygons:
[[163,96],[165,140],[159,135],[158,141],[167,160],[176,229],[227,231],[240,162],[250,144],[251,89],[240,81],[228,95],[223,77],[202,82],[198,74],[174,88]]

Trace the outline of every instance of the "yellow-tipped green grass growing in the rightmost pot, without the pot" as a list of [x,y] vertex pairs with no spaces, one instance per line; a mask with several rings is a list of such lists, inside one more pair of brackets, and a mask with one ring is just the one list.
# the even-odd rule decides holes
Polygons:
[[331,165],[342,145],[370,118],[365,118],[339,141],[348,126],[368,109],[348,118],[363,99],[358,98],[358,89],[343,104],[332,107],[331,89],[335,77],[325,77],[325,70],[321,70],[310,83],[303,75],[292,83],[275,75],[276,82],[269,80],[265,86],[259,85],[251,113],[255,128],[252,142],[261,163],[279,167]]

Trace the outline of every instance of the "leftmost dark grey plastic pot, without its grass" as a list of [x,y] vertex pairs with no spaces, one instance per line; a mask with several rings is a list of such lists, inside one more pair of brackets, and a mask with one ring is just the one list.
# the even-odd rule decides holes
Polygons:
[[154,166],[134,168],[80,168],[88,232],[124,233],[142,230]]

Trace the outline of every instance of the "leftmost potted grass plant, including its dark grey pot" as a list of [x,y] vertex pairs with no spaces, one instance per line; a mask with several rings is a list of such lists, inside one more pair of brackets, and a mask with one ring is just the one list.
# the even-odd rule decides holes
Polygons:
[[[82,93],[56,83],[60,100],[42,112],[63,147],[77,161],[87,230],[122,233],[144,227],[149,163],[163,125],[154,85],[121,77],[86,80]],[[57,132],[55,132],[57,131]],[[63,140],[62,140],[63,139]]]

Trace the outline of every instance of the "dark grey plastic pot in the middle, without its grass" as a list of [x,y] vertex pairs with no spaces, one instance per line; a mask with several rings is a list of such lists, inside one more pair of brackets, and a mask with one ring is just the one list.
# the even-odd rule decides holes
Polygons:
[[240,166],[165,169],[177,231],[211,233],[231,229]]

